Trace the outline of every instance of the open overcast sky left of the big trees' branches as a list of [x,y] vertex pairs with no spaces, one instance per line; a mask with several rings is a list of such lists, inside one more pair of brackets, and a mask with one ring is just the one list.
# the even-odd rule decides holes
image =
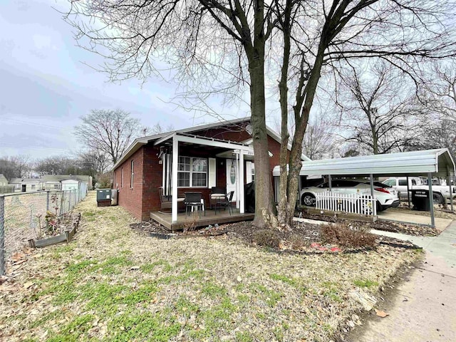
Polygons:
[[[80,145],[73,127],[90,109],[121,108],[143,125],[185,128],[213,122],[169,101],[176,86],[150,79],[107,83],[93,71],[101,58],[76,47],[71,26],[53,7],[60,0],[0,1],[0,157],[68,155]],[[227,119],[246,113],[220,113]]]

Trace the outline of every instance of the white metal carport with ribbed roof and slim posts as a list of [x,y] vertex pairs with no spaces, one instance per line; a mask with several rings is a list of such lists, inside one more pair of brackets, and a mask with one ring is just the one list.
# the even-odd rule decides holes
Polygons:
[[[273,170],[276,194],[278,194],[280,167]],[[432,201],[432,177],[445,178],[450,187],[450,177],[455,175],[455,162],[447,148],[413,152],[390,153],[387,155],[362,155],[326,160],[302,162],[300,176],[326,175],[331,189],[331,177],[369,177],[373,195],[373,177],[410,177],[427,176],[430,197],[431,226],[435,227],[434,206]],[[299,181],[301,194],[301,177]],[[299,199],[301,200],[301,199]],[[451,209],[453,210],[453,203]]]

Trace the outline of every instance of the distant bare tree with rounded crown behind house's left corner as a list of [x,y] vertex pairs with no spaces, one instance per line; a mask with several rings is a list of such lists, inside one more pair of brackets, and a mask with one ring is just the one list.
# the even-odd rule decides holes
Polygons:
[[125,110],[91,110],[81,120],[75,127],[78,140],[89,150],[109,155],[113,164],[141,133],[140,121]]

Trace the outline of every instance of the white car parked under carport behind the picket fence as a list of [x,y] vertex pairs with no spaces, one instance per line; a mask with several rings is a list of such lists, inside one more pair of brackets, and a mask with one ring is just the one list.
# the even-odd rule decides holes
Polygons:
[[[371,185],[369,183],[358,182],[356,180],[333,180],[331,183],[332,192],[334,193],[343,195],[358,194],[360,196],[371,195]],[[301,190],[301,204],[314,207],[316,194],[323,191],[329,191],[328,182],[316,185],[315,187],[304,187]],[[382,183],[374,182],[373,195],[377,200],[377,212],[381,212],[389,207],[398,207],[400,204],[396,190]]]

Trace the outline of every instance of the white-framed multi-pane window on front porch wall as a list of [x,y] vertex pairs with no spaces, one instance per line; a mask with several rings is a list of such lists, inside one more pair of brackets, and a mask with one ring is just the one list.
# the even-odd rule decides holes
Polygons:
[[179,157],[178,187],[207,187],[207,159]]

